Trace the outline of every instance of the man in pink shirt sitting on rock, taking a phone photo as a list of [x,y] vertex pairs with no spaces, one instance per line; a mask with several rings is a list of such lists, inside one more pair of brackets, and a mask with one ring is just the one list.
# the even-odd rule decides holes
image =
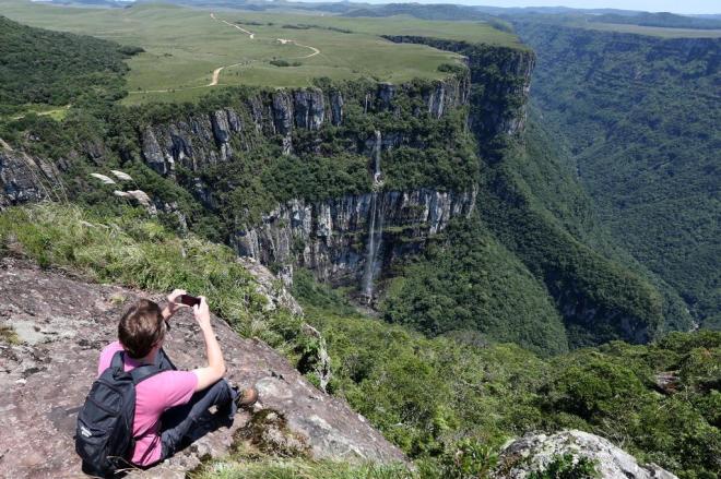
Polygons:
[[141,364],[156,364],[162,370],[135,386],[132,426],[135,444],[128,459],[137,466],[151,466],[172,456],[184,444],[184,439],[188,441],[194,426],[209,417],[212,406],[217,407],[216,414],[232,421],[238,406],[252,405],[258,398],[256,390],[238,392],[223,379],[225,361],[204,297],[192,308],[205,342],[208,366],[177,371],[165,355],[163,343],[170,328],[167,320],[180,308],[188,308],[177,302],[185,294],[174,290],[164,310],[146,299],[135,302],[120,320],[119,340],[106,346],[101,354],[98,375],[110,367],[118,351],[125,351],[126,371]]

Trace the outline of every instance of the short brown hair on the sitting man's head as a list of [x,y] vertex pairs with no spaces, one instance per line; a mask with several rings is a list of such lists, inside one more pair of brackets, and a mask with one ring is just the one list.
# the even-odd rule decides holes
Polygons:
[[156,302],[141,299],[122,315],[118,325],[118,339],[133,359],[147,356],[165,336],[163,312]]

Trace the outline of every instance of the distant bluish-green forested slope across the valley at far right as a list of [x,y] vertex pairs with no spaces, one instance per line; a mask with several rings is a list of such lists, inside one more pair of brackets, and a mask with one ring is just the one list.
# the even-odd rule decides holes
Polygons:
[[532,104],[615,239],[718,327],[721,40],[518,23]]

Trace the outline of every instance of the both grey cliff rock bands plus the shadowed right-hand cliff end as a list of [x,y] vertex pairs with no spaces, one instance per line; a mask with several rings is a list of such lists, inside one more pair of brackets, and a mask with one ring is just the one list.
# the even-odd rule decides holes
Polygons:
[[[249,221],[243,212],[235,212],[229,242],[240,255],[274,264],[280,271],[302,265],[336,284],[359,282],[373,297],[374,280],[393,261],[422,251],[453,217],[468,217],[477,193],[475,178],[466,179],[461,188],[433,188],[425,182],[402,190],[389,188],[381,157],[392,163],[391,152],[401,148],[456,152],[457,145],[444,144],[448,133],[424,141],[417,132],[425,131],[427,140],[428,131],[444,128],[436,120],[459,111],[464,120],[452,128],[470,127],[477,149],[482,154],[494,151],[497,137],[523,128],[534,60],[531,52],[511,48],[417,37],[392,39],[462,52],[469,70],[435,82],[322,84],[249,93],[236,98],[233,106],[141,127],[144,160],[166,177],[174,178],[179,166],[190,170],[196,177],[196,196],[205,207],[217,208],[213,185],[201,180],[203,169],[217,169],[262,145],[272,145],[286,156],[332,156],[339,151],[329,148],[330,137],[331,143],[343,142],[341,152],[367,156],[368,184],[373,183],[368,190],[373,191],[321,195],[312,202],[296,196],[267,209],[259,221],[258,216]],[[417,122],[418,118],[424,120]]]

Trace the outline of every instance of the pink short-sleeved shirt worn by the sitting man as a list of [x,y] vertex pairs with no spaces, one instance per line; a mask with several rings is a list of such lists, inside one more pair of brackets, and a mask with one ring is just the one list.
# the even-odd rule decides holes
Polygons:
[[[110,367],[117,351],[122,351],[120,342],[110,343],[103,349],[97,364],[98,376]],[[126,371],[140,364],[126,355]],[[161,415],[174,406],[187,404],[197,384],[198,378],[190,371],[163,371],[135,386],[132,433],[138,439],[131,459],[133,464],[149,466],[161,459]]]

